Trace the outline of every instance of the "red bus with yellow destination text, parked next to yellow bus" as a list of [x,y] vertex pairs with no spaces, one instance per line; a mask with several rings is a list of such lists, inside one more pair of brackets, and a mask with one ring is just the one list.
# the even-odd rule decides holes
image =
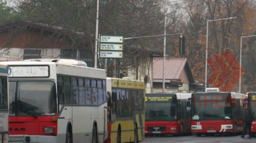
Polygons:
[[191,133],[191,93],[147,93],[145,97],[145,136]]

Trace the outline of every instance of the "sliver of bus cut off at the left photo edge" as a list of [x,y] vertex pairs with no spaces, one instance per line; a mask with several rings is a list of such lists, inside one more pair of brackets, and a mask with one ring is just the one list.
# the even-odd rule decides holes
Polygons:
[[0,64],[0,143],[8,143],[8,66]]

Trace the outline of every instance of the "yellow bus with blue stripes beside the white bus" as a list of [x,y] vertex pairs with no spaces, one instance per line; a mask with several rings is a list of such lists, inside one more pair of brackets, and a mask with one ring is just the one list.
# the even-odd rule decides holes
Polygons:
[[144,139],[145,85],[130,78],[107,78],[108,138],[104,143]]

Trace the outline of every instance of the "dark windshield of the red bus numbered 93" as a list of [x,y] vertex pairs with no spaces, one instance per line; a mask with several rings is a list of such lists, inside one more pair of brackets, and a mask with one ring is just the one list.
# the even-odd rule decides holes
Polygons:
[[192,99],[192,120],[231,119],[232,107],[228,95],[198,94]]

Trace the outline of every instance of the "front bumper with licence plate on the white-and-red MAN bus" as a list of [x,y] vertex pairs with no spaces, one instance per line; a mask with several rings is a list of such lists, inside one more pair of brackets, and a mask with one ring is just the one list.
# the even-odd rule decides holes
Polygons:
[[51,135],[9,135],[9,142],[56,143],[57,136]]

